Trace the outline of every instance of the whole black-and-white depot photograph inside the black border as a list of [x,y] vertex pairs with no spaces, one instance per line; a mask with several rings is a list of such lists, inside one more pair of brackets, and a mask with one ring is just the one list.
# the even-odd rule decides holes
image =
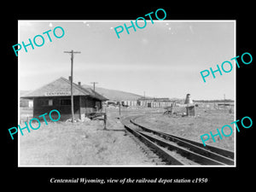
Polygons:
[[19,20],[19,42],[19,166],[236,166],[236,20]]

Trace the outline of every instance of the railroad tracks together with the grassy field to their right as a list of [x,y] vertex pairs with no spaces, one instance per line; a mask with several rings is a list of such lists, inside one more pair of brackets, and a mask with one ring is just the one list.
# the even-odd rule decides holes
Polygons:
[[[197,108],[193,117],[165,115],[162,110],[127,114],[122,122],[127,131],[151,148],[166,165],[234,166],[234,137],[204,147],[201,131],[220,127],[234,114],[225,108]],[[212,122],[215,122],[214,124]]]

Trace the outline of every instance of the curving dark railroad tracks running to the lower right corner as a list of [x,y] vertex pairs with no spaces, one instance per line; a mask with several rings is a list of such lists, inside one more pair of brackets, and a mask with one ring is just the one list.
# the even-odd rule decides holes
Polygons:
[[204,147],[202,143],[139,125],[135,119],[140,116],[122,119],[126,130],[152,148],[167,165],[235,165],[233,152],[213,146]]

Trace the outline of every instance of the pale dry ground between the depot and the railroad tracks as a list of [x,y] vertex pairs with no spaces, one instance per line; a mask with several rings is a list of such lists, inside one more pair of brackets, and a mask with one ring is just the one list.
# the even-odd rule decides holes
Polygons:
[[[26,117],[27,112],[21,113]],[[24,130],[24,136],[19,134],[20,166],[154,166],[115,114],[108,113],[107,131],[102,120],[43,121],[38,130]]]

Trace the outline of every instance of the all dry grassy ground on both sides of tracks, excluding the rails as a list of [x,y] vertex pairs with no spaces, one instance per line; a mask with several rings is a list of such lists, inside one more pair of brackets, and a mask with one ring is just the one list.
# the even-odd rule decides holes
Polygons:
[[[107,108],[107,131],[102,120],[87,122],[44,121],[38,130],[24,136],[19,132],[20,166],[154,166],[131,135],[125,132],[119,118],[131,114],[146,114],[138,123],[160,131],[201,142],[202,134],[217,133],[216,129],[230,125],[234,114],[227,110],[196,108],[195,117],[170,117],[163,108]],[[32,119],[32,110],[20,108],[20,126]],[[38,125],[33,125],[38,127]],[[213,143],[221,148],[234,149],[234,134]]]

